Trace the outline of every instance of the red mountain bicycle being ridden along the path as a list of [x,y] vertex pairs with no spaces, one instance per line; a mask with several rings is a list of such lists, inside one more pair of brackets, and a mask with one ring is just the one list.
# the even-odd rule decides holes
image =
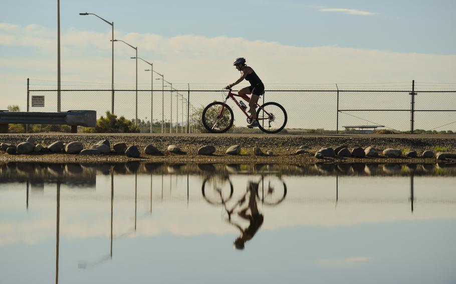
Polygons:
[[[252,123],[252,116],[247,112],[247,108],[243,107],[241,103],[235,98],[239,96],[246,98],[247,95],[240,95],[232,92],[232,88],[229,90],[223,102],[214,101],[209,103],[202,111],[202,123],[204,128],[212,133],[223,133],[228,131],[233,126],[235,119],[233,110],[226,101],[232,98],[236,104],[241,108],[242,112],[247,116],[247,123]],[[280,132],[287,124],[287,112],[285,108],[277,102],[270,101],[263,105],[256,103],[257,120],[259,122],[259,128],[266,133],[277,133]],[[266,125],[265,125],[266,124]]]

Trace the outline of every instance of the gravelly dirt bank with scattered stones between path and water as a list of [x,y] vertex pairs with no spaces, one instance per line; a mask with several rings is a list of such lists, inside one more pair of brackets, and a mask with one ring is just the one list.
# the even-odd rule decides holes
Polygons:
[[[3,134],[0,142],[18,144],[32,136],[35,143],[49,145],[55,141],[80,141],[86,148],[99,140],[108,139],[111,144],[125,142],[136,145],[141,151],[139,159],[165,162],[224,162],[224,163],[293,163],[303,164],[315,162],[314,153],[324,146],[337,147],[346,145],[349,148],[367,147],[370,145],[383,150],[385,148],[413,149],[420,154],[424,150],[434,152],[456,152],[456,135],[265,135],[265,134]],[[143,149],[152,143],[162,151],[160,155],[146,155]],[[168,145],[174,144],[181,148],[181,153],[168,153]],[[203,145],[214,145],[216,151],[211,156],[197,155],[197,149]],[[241,155],[225,155],[231,145],[239,144],[243,148]],[[309,153],[295,154],[301,145],[308,146]],[[266,151],[273,151],[273,156],[255,156],[253,147],[259,146]],[[9,155],[0,151],[0,160],[8,161],[125,161],[131,160],[125,155],[108,154],[97,156],[81,156],[56,153],[32,153]],[[403,158],[344,158],[346,161],[373,162],[432,162],[434,159]]]

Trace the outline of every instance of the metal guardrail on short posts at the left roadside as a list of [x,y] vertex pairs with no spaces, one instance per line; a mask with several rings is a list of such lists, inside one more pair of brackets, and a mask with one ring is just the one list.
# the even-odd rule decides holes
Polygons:
[[20,124],[66,124],[76,133],[78,126],[95,127],[95,110],[68,110],[63,112],[25,112],[0,110],[0,133],[8,133],[9,123]]

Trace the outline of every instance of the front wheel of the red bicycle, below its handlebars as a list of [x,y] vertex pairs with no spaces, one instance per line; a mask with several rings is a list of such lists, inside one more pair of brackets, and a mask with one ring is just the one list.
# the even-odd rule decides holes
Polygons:
[[202,124],[207,131],[212,133],[228,131],[233,126],[234,119],[233,110],[223,102],[209,103],[202,111]]

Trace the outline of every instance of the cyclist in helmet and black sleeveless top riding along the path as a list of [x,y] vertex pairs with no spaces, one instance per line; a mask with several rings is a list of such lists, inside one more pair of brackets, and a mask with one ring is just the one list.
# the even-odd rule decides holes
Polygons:
[[[257,112],[255,111],[255,108],[256,103],[260,98],[260,95],[265,93],[265,85],[263,84],[257,73],[255,73],[254,69],[252,69],[252,67],[250,66],[247,66],[246,58],[237,58],[233,65],[235,65],[236,69],[238,69],[241,72],[241,77],[237,79],[234,83],[227,85],[226,88],[231,88],[234,85],[237,85],[240,82],[242,82],[242,80],[244,79],[250,82],[250,86],[240,89],[239,94],[242,95],[242,97],[249,102],[250,106],[249,112],[252,116],[252,123],[247,125],[247,127],[258,127]],[[247,94],[252,94],[252,96],[249,98]]]

